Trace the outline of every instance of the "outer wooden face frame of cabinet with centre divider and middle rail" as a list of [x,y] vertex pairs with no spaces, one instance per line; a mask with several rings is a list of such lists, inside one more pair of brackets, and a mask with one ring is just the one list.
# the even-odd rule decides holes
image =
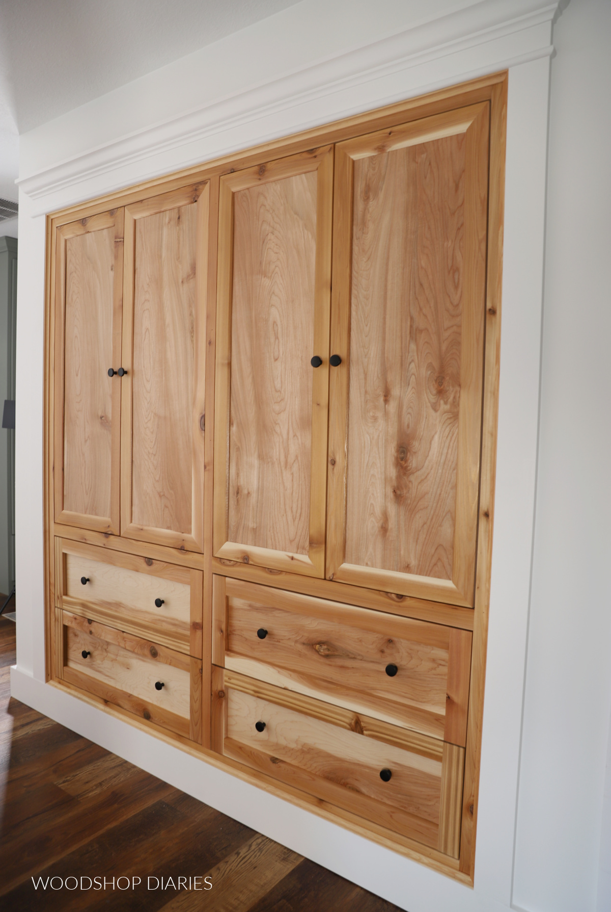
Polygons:
[[[324,124],[321,127],[304,130],[293,136],[282,137],[279,140],[260,146],[232,152],[215,161],[192,166],[175,174],[164,175],[148,181],[142,181],[134,187],[111,192],[89,202],[79,202],[67,206],[65,209],[50,212],[46,216],[46,347],[45,347],[45,408],[46,419],[44,425],[44,553],[45,553],[45,619],[46,619],[46,680],[54,680],[56,686],[72,693],[78,699],[87,702],[99,711],[107,712],[119,720],[130,720],[132,724],[154,734],[159,740],[172,744],[191,755],[197,755],[219,770],[231,772],[244,782],[255,784],[266,792],[280,797],[283,800],[308,810],[322,819],[335,824],[340,824],[352,833],[372,840],[393,852],[399,853],[419,864],[426,865],[445,876],[465,886],[474,883],[474,849],[475,831],[478,814],[478,785],[480,753],[482,746],[482,722],[484,710],[484,679],[486,666],[486,642],[488,629],[488,606],[490,597],[490,568],[492,559],[493,522],[494,522],[494,471],[496,454],[496,423],[498,412],[499,389],[499,358],[500,358],[500,326],[502,305],[502,273],[503,273],[503,223],[504,223],[504,159],[505,159],[505,129],[507,105],[507,72],[497,72],[484,77],[475,78],[469,82],[453,85],[434,91],[428,95],[409,98],[393,103],[381,109],[366,111],[335,123]],[[328,143],[340,143],[351,140],[364,134],[371,134],[375,130],[390,130],[424,117],[442,114],[447,111],[464,108],[467,105],[480,102],[490,102],[491,130],[490,130],[490,184],[488,199],[488,247],[487,247],[487,273],[486,273],[486,312],[485,312],[485,349],[484,349],[484,392],[483,392],[483,420],[482,420],[482,459],[480,477],[480,503],[479,503],[479,528],[477,538],[477,562],[475,573],[474,607],[452,607],[438,601],[425,601],[423,598],[413,596],[393,595],[392,592],[382,592],[375,589],[366,589],[352,584],[330,582],[324,576],[317,578],[311,575],[300,575],[296,568],[290,566],[286,571],[271,571],[265,566],[248,565],[238,557],[234,560],[218,559],[212,556],[212,434],[206,440],[208,454],[208,471],[206,472],[206,520],[205,520],[205,548],[204,554],[188,552],[180,549],[166,548],[164,545],[149,545],[135,539],[119,538],[116,534],[108,534],[101,530],[87,530],[85,526],[66,525],[54,523],[56,464],[54,463],[54,428],[56,399],[54,390],[55,378],[60,371],[59,361],[55,361],[56,351],[56,309],[60,306],[59,296],[56,295],[56,272],[58,262],[56,248],[60,244],[58,228],[76,220],[93,219],[134,202],[147,200],[160,193],[179,190],[186,184],[195,181],[210,181],[210,233],[209,233],[209,328],[207,345],[210,357],[208,361],[208,409],[207,420],[209,429],[213,426],[214,409],[214,358],[212,353],[215,346],[215,316],[214,300],[217,282],[216,270],[216,244],[217,234],[214,231],[216,212],[219,200],[219,178],[223,175],[246,168],[259,167],[270,160],[281,156],[305,154],[308,150],[319,148]],[[321,369],[321,368],[320,368]],[[115,378],[118,380],[118,378]],[[204,569],[204,618],[205,629],[209,629],[209,612],[211,610],[211,573],[233,576],[247,582],[259,582],[279,589],[287,588],[295,592],[329,598],[343,602],[352,602],[371,610],[389,611],[405,617],[416,617],[443,623],[452,626],[453,618],[456,627],[473,630],[473,658],[470,679],[469,715],[467,722],[467,743],[464,756],[464,780],[462,798],[462,824],[460,834],[460,855],[453,859],[448,855],[440,855],[434,850],[427,850],[423,845],[417,845],[411,840],[401,836],[389,834],[376,824],[366,823],[352,814],[332,807],[330,804],[311,799],[307,794],[300,792],[290,785],[275,782],[270,776],[255,772],[238,762],[219,757],[218,753],[207,750],[207,733],[209,723],[206,713],[209,712],[209,700],[202,700],[202,734],[203,752],[195,752],[192,742],[187,743],[179,735],[168,737],[168,733],[159,729],[152,722],[138,722],[126,710],[109,706],[96,696],[88,694],[85,690],[71,686],[61,680],[62,662],[62,621],[61,610],[56,609],[56,566],[54,560],[54,536],[66,536],[71,541],[82,541],[96,544],[104,548],[105,553],[118,552],[123,554],[140,554],[147,556],[150,553],[156,560],[174,561],[178,565],[193,566]],[[350,592],[349,592],[350,590]],[[353,593],[353,596],[350,595]],[[429,596],[430,597],[430,596]],[[428,613],[430,612],[430,614]],[[209,651],[208,638],[204,638],[204,653]],[[209,668],[209,659],[204,658],[204,695],[206,694],[206,676],[215,675],[220,669]],[[213,686],[214,690],[214,686]],[[214,707],[213,707],[214,710]],[[212,726],[214,731],[214,725]]]

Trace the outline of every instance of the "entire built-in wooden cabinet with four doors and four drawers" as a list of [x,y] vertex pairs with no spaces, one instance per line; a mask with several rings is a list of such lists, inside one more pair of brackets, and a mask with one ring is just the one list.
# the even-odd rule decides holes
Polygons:
[[48,217],[49,678],[468,884],[505,94]]

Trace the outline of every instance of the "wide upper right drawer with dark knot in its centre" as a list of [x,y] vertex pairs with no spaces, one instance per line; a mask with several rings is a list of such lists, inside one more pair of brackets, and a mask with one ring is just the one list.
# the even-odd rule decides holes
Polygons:
[[464,747],[470,631],[213,582],[215,665]]

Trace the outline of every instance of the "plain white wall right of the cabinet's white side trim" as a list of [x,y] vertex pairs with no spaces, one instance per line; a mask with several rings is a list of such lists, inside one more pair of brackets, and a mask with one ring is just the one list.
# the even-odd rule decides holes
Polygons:
[[549,912],[596,907],[611,710],[610,39],[608,0],[571,0],[554,31],[514,884],[518,906]]

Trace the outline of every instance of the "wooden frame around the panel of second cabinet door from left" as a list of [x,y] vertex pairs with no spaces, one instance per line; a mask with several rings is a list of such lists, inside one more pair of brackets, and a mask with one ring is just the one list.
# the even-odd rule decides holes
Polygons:
[[[193,340],[193,402],[191,409],[191,533],[141,525],[132,520],[133,365],[136,284],[136,223],[197,203],[195,338]],[[204,416],[206,412],[206,316],[208,284],[209,181],[151,197],[126,206],[123,292],[123,354],[127,375],[121,389],[121,534],[152,544],[188,551],[204,550]]]

